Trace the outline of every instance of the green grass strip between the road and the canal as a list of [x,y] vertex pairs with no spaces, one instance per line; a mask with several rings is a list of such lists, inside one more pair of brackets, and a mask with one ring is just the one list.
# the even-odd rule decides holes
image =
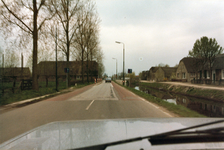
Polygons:
[[[119,83],[117,83],[117,84],[119,84]],[[120,86],[123,86],[123,85],[120,85]],[[196,111],[190,110],[190,109],[188,109],[188,108],[186,108],[186,107],[184,107],[182,105],[175,105],[175,104],[166,102],[166,101],[164,101],[164,100],[162,100],[160,98],[156,98],[156,97],[154,97],[154,96],[152,96],[150,94],[141,92],[141,91],[136,90],[134,88],[130,88],[130,87],[126,87],[126,86],[123,86],[123,87],[128,89],[129,91],[135,93],[136,95],[138,95],[138,96],[148,100],[149,102],[152,102],[154,104],[157,104],[159,106],[164,107],[168,111],[170,111],[172,113],[175,113],[175,114],[177,114],[180,117],[206,117],[206,116],[204,116],[202,114],[199,114]]]

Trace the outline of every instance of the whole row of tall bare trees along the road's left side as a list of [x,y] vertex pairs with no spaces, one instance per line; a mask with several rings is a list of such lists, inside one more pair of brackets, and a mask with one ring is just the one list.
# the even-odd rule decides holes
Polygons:
[[83,82],[84,61],[97,61],[99,73],[104,72],[100,19],[91,0],[1,0],[0,18],[5,38],[16,39],[17,48],[32,49],[28,65],[32,64],[33,89],[38,90],[37,63],[55,58],[56,37],[59,58],[65,56],[67,68],[71,59],[82,61]]

